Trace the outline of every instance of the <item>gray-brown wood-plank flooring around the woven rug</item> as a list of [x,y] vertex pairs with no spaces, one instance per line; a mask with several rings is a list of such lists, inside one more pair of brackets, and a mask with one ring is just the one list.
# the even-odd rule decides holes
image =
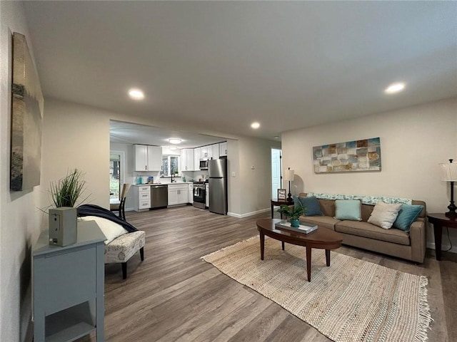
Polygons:
[[[269,215],[236,219],[191,206],[127,212],[127,221],[146,232],[145,259],[131,257],[126,280],[120,264],[105,267],[105,341],[330,341],[200,259],[257,235],[256,219]],[[438,262],[427,251],[416,265],[353,247],[336,252],[428,276],[428,341],[457,341],[456,254],[443,253]]]

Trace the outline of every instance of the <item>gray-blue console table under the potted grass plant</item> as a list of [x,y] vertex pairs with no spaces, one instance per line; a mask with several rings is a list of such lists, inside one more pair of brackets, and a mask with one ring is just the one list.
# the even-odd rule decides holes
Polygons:
[[42,232],[33,248],[34,342],[74,341],[96,331],[104,341],[104,241],[94,221],[78,223],[78,240],[49,245]]

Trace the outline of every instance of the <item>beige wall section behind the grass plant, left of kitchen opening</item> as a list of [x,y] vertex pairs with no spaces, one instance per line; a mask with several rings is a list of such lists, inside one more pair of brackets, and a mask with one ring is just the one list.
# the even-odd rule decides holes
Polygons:
[[[77,168],[85,173],[86,202],[109,207],[109,113],[96,108],[46,100],[41,184]],[[49,205],[46,192],[41,204]]]

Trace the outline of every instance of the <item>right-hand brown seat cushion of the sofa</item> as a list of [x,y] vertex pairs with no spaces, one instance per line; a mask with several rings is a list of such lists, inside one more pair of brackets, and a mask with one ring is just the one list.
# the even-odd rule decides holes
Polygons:
[[335,230],[336,232],[367,237],[368,239],[410,245],[408,232],[403,232],[403,230],[396,228],[383,229],[368,222],[341,221],[335,224]]

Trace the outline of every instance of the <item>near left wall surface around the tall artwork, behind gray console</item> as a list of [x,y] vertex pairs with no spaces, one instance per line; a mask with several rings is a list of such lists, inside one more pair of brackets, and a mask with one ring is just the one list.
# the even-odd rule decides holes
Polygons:
[[27,341],[31,320],[31,246],[39,236],[41,187],[9,191],[11,34],[33,43],[21,2],[0,1],[0,341]]

